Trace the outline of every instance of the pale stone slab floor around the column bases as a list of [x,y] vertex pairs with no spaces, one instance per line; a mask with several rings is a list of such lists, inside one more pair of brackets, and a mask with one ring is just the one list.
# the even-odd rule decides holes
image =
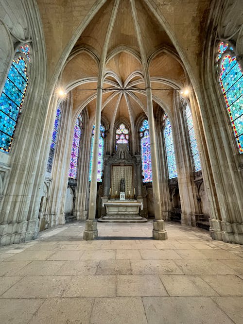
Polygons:
[[243,323],[243,247],[167,223],[84,222],[0,248],[0,323]]

